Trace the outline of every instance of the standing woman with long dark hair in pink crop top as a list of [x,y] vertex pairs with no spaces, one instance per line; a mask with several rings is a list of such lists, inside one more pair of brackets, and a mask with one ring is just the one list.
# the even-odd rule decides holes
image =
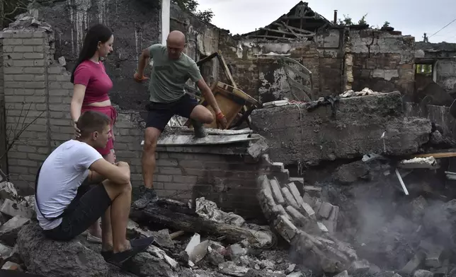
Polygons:
[[[74,66],[72,73],[72,83],[74,92],[71,103],[71,115],[76,137],[79,136],[79,129],[76,122],[82,112],[93,110],[107,114],[111,120],[111,135],[105,148],[96,148],[103,155],[103,158],[110,163],[115,163],[114,154],[114,135],[112,126],[115,123],[117,112],[111,105],[108,93],[113,88],[113,82],[106,74],[102,58],[113,52],[113,32],[105,25],[94,25],[84,39],[84,45],[79,54],[79,59]],[[89,228],[87,238],[91,242],[101,243],[101,227],[99,222]]]

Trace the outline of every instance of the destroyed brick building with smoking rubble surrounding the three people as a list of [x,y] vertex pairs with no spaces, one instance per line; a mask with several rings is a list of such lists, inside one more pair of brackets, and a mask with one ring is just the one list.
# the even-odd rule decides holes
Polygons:
[[130,164],[135,193],[148,97],[132,74],[144,47],[182,30],[213,91],[250,95],[238,105],[254,109],[241,122],[249,128],[210,129],[207,141],[186,126],[161,137],[154,185],[164,199],[131,213],[141,228],[128,226],[130,237],[157,237],[132,259],[136,276],[452,274],[455,193],[442,176],[455,170],[426,151],[453,143],[455,119],[448,107],[404,103],[424,63],[414,37],[339,26],[302,1],[234,37],[169,1],[83,2],[32,6],[1,32],[4,267],[125,276],[84,237],[52,242],[30,222],[38,165],[73,135],[69,71],[86,28],[101,22],[115,33],[106,61],[119,111],[115,149]]

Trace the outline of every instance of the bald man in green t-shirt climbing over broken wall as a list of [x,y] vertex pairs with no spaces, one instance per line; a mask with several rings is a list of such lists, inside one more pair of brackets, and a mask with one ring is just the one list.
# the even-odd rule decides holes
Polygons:
[[155,148],[161,132],[169,119],[178,114],[191,120],[195,128],[195,136],[205,136],[203,124],[210,124],[214,116],[203,105],[198,105],[195,98],[190,97],[184,90],[184,85],[190,78],[194,81],[205,100],[215,111],[215,119],[222,129],[227,127],[227,119],[222,114],[212,91],[201,76],[200,69],[195,61],[183,53],[186,47],[186,37],[179,31],[169,33],[166,46],[152,45],[142,51],[139,57],[136,81],[144,81],[144,68],[149,58],[154,61],[149,84],[150,103],[147,116],[142,152],[142,177],[146,192],[133,203],[134,208],[145,208],[147,204],[156,201],[157,196],[153,189],[155,170]]

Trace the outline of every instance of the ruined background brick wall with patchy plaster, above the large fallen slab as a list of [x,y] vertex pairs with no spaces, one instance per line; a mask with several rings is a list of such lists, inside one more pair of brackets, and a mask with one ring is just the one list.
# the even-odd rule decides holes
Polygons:
[[[324,30],[312,41],[263,41],[224,35],[220,49],[234,81],[261,102],[290,98],[290,86],[278,56],[290,57],[312,71],[314,95],[341,93],[344,61],[353,56],[353,89],[365,87],[406,93],[414,84],[414,37],[377,30]],[[350,47],[346,51],[346,44]],[[222,76],[221,76],[222,78]],[[258,93],[257,93],[258,92]]]

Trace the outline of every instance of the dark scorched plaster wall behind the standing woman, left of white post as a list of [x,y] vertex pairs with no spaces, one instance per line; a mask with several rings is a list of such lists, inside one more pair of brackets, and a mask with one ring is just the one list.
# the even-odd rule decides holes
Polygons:
[[131,82],[142,49],[159,43],[161,1],[96,0],[47,1],[35,6],[38,17],[55,32],[55,57],[64,57],[72,71],[86,29],[96,23],[114,33],[114,52],[105,62],[113,79],[110,98],[122,109],[144,110],[149,100],[147,84]]

